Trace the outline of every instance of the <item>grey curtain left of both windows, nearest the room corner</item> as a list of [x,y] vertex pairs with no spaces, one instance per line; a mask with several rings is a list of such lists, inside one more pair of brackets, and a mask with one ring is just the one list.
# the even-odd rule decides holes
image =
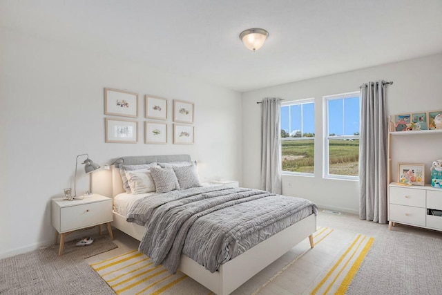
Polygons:
[[282,192],[280,109],[280,98],[262,100],[261,189],[278,194]]

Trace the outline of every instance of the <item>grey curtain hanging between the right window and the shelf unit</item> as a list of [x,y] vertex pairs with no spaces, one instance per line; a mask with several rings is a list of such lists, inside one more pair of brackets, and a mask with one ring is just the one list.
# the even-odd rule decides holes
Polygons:
[[387,223],[387,110],[384,81],[361,86],[359,218]]

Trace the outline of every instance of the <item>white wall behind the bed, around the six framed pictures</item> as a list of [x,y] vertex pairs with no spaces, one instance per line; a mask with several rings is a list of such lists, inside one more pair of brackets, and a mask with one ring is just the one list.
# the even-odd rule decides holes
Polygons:
[[[202,180],[241,180],[240,93],[93,48],[6,29],[0,39],[0,257],[53,243],[50,199],[73,187],[81,153],[102,166],[122,155],[189,153]],[[104,142],[104,87],[140,95],[137,144]],[[144,144],[145,94],[169,99],[168,144]],[[195,103],[195,144],[172,144],[172,99]],[[77,192],[87,187],[79,169]]]

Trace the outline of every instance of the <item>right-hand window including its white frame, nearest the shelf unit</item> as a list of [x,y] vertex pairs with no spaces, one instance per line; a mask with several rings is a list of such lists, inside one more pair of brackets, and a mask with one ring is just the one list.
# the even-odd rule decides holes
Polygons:
[[324,175],[357,179],[359,174],[360,93],[324,97]]

